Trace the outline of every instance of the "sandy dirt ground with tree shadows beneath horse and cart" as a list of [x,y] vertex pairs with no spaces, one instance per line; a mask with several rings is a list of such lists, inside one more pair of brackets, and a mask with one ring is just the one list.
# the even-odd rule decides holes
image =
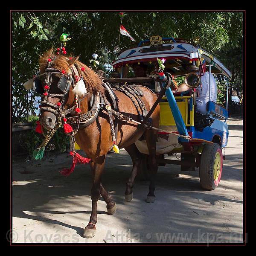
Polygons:
[[[125,150],[108,154],[103,185],[117,204],[107,215],[98,202],[96,236],[81,235],[91,211],[89,166],[77,165],[69,177],[58,171],[72,158],[59,154],[42,161],[13,158],[13,242],[34,243],[186,243],[242,242],[243,121],[230,118],[229,140],[221,183],[205,191],[196,172],[179,174],[179,166],[159,167],[156,201],[145,202],[148,181],[136,180],[134,198],[125,202],[125,183],[132,162]],[[178,155],[177,155],[178,157]]]

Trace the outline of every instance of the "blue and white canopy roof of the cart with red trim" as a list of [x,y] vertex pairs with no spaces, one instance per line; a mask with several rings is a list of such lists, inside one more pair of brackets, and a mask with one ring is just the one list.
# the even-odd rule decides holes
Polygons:
[[199,58],[204,58],[207,69],[211,63],[211,73],[223,74],[231,79],[230,71],[215,58],[212,54],[196,45],[178,40],[174,38],[163,38],[162,46],[151,47],[147,44],[149,40],[141,41],[137,47],[127,49],[120,53],[118,59],[112,62],[112,66],[122,67],[125,65],[132,66],[135,63],[143,63],[147,66],[154,65],[157,58],[165,58],[165,70],[172,75],[186,75],[187,71],[183,69],[181,64],[189,63],[189,61],[197,61]]

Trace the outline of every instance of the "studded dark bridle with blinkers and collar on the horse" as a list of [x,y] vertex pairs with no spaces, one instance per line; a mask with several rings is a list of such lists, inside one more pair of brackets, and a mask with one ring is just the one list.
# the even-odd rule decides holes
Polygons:
[[[67,117],[67,122],[69,122],[71,125],[77,125],[76,131],[73,133],[74,135],[78,131],[79,126],[86,127],[96,119],[99,110],[104,103],[104,100],[102,99],[102,95],[100,95],[99,93],[96,96],[92,95],[92,98],[90,99],[91,109],[86,113],[77,113],[76,111],[74,111],[76,105],[71,108],[65,109],[64,105],[68,100],[70,85],[74,89],[80,79],[77,69],[74,65],[70,67],[69,71],[69,73],[62,73],[56,68],[46,68],[43,74],[34,77],[33,90],[42,94],[40,115],[42,111],[49,111],[55,114],[56,123],[61,122],[61,118]],[[52,84],[52,75],[59,76],[57,87],[60,90],[60,93],[49,93],[50,85]],[[42,82],[44,84],[44,87],[42,86]],[[80,102],[85,99],[88,93],[89,90],[87,90],[87,93],[82,97],[77,95],[75,96],[74,101],[77,101],[78,106],[80,105]],[[47,101],[47,97],[57,97],[59,98],[59,102],[57,104],[49,102]],[[72,116],[67,116],[68,114],[72,114]],[[73,116],[74,114],[75,116]]]

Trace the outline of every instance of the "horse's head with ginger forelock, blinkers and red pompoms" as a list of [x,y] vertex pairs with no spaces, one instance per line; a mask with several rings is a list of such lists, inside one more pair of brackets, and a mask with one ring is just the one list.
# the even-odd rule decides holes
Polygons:
[[34,87],[42,95],[41,125],[47,130],[53,129],[58,120],[65,117],[65,111],[76,105],[75,87],[81,78],[85,84],[83,94],[91,95],[101,90],[99,77],[78,59],[79,56],[55,55],[52,49],[40,56],[40,75],[35,77]]

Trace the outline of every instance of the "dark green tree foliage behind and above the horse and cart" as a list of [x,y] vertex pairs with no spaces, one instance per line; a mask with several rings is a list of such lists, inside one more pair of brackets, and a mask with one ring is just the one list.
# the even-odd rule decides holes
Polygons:
[[[12,81],[15,119],[33,113],[35,93],[24,90],[22,84],[38,73],[38,57],[51,47],[59,47],[60,35],[66,33],[67,54],[79,55],[90,64],[91,55],[98,53],[99,65],[106,73],[117,56],[113,48],[119,42],[119,12],[12,12]],[[234,74],[234,89],[242,87],[242,12],[126,12],[122,24],[137,41],[152,35],[193,39],[201,38],[200,46],[217,53]],[[120,48],[133,43],[120,36]],[[235,87],[236,86],[236,87]],[[25,106],[23,106],[25,104]]]

